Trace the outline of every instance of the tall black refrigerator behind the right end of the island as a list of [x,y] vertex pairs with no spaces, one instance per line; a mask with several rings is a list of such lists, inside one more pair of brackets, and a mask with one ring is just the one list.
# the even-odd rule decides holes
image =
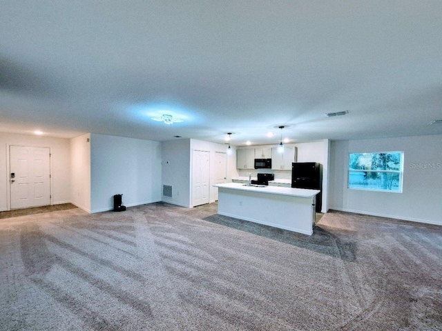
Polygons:
[[316,212],[322,207],[323,174],[320,163],[317,162],[294,162],[291,163],[291,187],[320,190],[316,195]]

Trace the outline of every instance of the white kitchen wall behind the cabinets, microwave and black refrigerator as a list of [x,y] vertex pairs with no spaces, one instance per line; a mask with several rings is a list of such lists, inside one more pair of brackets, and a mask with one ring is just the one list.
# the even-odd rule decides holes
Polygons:
[[[328,139],[320,141],[309,141],[306,143],[287,143],[285,146],[296,146],[298,148],[298,157],[296,162],[318,162],[323,167],[323,190],[322,190],[322,212],[329,210],[329,147]],[[277,148],[278,145],[260,145],[260,146],[242,146],[240,148]],[[236,165],[235,165],[236,167]],[[267,172],[275,174],[276,179],[291,179],[291,170],[271,170],[271,169],[251,169],[238,170],[240,177],[256,177],[256,174]]]

